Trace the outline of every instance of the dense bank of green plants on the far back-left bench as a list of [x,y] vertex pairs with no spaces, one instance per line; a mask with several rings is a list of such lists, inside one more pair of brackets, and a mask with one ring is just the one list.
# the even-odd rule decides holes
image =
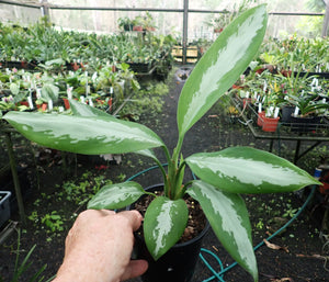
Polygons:
[[[145,29],[154,27],[149,13],[140,18]],[[171,35],[164,38],[171,38]],[[162,44],[161,44],[162,43]],[[164,43],[164,44],[163,44]],[[37,23],[26,31],[7,26],[0,34],[0,60],[88,63],[88,65],[111,65],[116,61],[149,63],[170,50],[173,41],[163,35],[132,34],[98,35],[56,30],[53,26]],[[58,65],[58,64],[57,64]]]

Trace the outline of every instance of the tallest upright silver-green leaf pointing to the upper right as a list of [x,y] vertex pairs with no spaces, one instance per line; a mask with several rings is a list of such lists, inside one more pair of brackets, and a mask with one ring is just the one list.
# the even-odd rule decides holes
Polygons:
[[263,41],[266,23],[265,5],[246,11],[197,63],[180,94],[177,116],[181,139],[247,69]]

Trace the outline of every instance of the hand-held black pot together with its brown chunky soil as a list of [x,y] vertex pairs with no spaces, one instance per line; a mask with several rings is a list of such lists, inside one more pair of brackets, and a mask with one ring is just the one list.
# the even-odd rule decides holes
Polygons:
[[[162,193],[162,184],[150,189],[157,194]],[[148,189],[148,191],[150,190]],[[144,196],[133,205],[133,208],[144,215],[152,200],[152,196]],[[146,259],[149,263],[147,272],[141,275],[144,282],[189,282],[193,277],[202,239],[209,229],[209,225],[198,203],[191,198],[184,200],[189,206],[189,222],[185,232],[180,241],[159,260],[155,261],[147,250],[143,237],[143,226],[135,234],[135,258]]]

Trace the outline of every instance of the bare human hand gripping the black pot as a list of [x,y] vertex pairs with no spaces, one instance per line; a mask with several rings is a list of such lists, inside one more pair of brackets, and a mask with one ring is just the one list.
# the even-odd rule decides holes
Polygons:
[[137,211],[82,212],[66,238],[65,258],[54,282],[118,282],[139,277],[147,261],[131,260]]

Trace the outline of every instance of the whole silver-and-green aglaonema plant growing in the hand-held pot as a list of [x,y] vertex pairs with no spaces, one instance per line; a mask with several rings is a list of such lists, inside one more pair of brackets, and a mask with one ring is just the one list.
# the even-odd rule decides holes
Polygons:
[[[319,182],[287,160],[254,148],[230,147],[188,158],[183,158],[181,148],[186,132],[248,67],[262,43],[266,21],[265,5],[246,11],[197,63],[179,99],[179,138],[172,153],[148,127],[114,119],[73,100],[72,115],[10,112],[4,120],[31,140],[55,149],[87,155],[137,153],[152,158],[160,167],[164,185],[164,194],[155,195],[145,214],[145,240],[152,257],[159,259],[183,234],[189,215],[182,198],[188,193],[201,204],[223,246],[257,281],[251,226],[239,194],[287,192]],[[163,149],[167,168],[151,150],[156,147]],[[183,183],[186,166],[197,180]],[[146,193],[134,181],[105,185],[88,208],[122,208]]]

